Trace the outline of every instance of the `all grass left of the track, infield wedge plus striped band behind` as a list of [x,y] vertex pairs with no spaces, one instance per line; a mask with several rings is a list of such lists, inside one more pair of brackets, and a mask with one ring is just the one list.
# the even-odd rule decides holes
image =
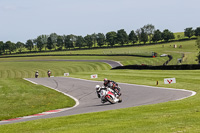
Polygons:
[[0,65],[0,120],[26,116],[44,111],[67,108],[75,101],[58,92],[40,85],[34,85],[22,78],[33,78],[35,71],[39,77],[47,77],[47,70],[53,76],[63,76],[77,72],[109,70],[104,63],[63,62],[63,61],[9,61]]

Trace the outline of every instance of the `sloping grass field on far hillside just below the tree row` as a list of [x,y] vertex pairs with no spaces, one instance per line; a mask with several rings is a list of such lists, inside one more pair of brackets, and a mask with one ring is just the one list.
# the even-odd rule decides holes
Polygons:
[[[174,48],[174,45],[177,45],[177,48]],[[59,51],[59,52],[43,52],[43,53],[34,53],[34,54],[28,54],[28,55],[68,55],[67,58],[86,58],[86,57],[79,57],[72,55],[76,54],[100,54],[100,55],[114,55],[114,54],[127,54],[127,55],[148,55],[151,56],[152,52],[157,52],[158,56],[162,54],[169,54],[173,56],[172,61],[169,63],[169,65],[176,65],[177,59],[182,58],[182,55],[184,54],[185,57],[183,59],[182,64],[197,64],[197,61],[195,61],[197,58],[198,51],[196,50],[195,46],[195,40],[190,41],[182,41],[182,42],[171,42],[171,43],[163,43],[163,44],[157,44],[157,45],[147,45],[147,46],[135,46],[135,47],[120,47],[120,48],[109,48],[109,49],[93,49],[93,50],[75,50],[75,51]],[[182,45],[182,48],[179,48],[180,45]],[[27,54],[22,54],[21,56],[26,56]],[[147,65],[162,65],[166,61],[167,58],[157,58],[157,61],[151,61],[149,58],[146,58],[145,61],[143,57],[129,57],[128,59],[125,56],[122,57],[105,57],[105,56],[99,56],[99,57],[88,57],[89,59],[114,59],[114,60],[120,60],[125,65],[131,65],[131,64],[147,64]],[[48,57],[50,58],[50,57]],[[62,57],[61,57],[62,58]],[[64,57],[66,58],[66,57]],[[5,59],[4,59],[5,60]],[[9,59],[8,59],[9,60]],[[156,62],[156,63],[155,63]]]

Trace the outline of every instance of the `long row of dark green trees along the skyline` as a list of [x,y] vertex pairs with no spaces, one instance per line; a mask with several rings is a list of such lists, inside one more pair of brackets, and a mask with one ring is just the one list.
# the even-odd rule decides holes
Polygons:
[[[193,30],[186,28],[184,35],[191,38],[193,35],[200,36],[200,27]],[[155,29],[152,24],[144,25],[136,31],[132,30],[129,34],[124,29],[117,32],[110,31],[106,34],[98,33],[86,36],[57,35],[51,33],[50,35],[40,35],[35,39],[29,39],[25,43],[11,41],[0,41],[0,54],[11,54],[12,52],[21,53],[24,51],[52,51],[52,50],[70,50],[73,48],[92,48],[92,47],[113,47],[118,44],[123,46],[125,44],[146,44],[158,43],[161,41],[168,42],[175,39],[174,33],[168,29],[162,32]]]

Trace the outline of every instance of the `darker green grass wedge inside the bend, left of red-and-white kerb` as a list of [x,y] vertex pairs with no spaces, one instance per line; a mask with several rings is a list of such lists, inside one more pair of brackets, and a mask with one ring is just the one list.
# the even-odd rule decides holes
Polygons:
[[0,120],[75,105],[71,98],[44,86],[34,85],[20,78],[0,80]]

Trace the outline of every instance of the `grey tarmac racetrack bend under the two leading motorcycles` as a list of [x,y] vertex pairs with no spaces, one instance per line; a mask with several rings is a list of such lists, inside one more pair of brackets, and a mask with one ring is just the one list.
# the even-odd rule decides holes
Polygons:
[[122,103],[102,104],[100,102],[100,99],[97,98],[95,85],[102,85],[103,82],[67,77],[30,78],[27,80],[37,84],[48,86],[62,93],[69,94],[77,100],[77,106],[71,109],[64,109],[60,112],[50,113],[47,115],[37,115],[34,117],[30,116],[10,121],[1,121],[1,125],[36,119],[53,118],[147,104],[156,104],[186,98],[195,94],[195,92],[186,90],[119,83],[122,92]]

